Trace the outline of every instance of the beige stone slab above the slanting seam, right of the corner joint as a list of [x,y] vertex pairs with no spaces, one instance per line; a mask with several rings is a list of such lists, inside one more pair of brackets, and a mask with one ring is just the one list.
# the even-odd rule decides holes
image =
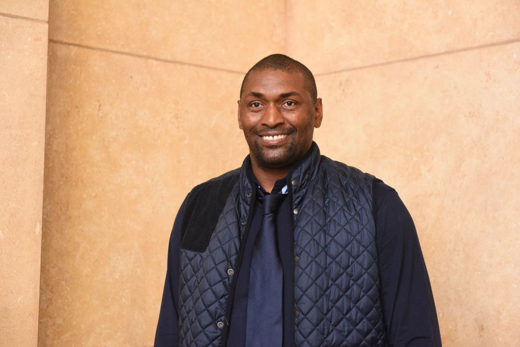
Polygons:
[[332,72],[520,37],[520,2],[288,2],[287,53]]

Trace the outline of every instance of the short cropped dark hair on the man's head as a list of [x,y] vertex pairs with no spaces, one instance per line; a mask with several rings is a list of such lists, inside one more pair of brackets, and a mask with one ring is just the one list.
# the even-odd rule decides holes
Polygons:
[[305,80],[305,87],[309,91],[311,99],[317,99],[318,91],[316,89],[316,81],[314,80],[313,73],[310,72],[310,70],[300,61],[294,60],[293,58],[290,58],[283,54],[271,54],[270,56],[267,56],[264,59],[258,61],[251,69],[249,69],[248,73],[245,74],[244,79],[242,80],[242,86],[240,87],[240,98],[242,98],[242,93],[244,92],[244,84],[245,81],[248,80],[249,74],[252,71],[262,70],[282,70],[287,72],[301,72]]

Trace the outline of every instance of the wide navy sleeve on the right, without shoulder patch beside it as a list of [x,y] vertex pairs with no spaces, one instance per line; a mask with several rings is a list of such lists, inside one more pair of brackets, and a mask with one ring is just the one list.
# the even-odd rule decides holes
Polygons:
[[410,213],[397,192],[374,185],[380,295],[391,346],[441,346],[430,279]]

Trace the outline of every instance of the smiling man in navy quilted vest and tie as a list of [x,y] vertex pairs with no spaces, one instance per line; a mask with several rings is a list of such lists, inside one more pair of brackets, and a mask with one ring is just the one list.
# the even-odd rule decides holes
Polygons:
[[408,211],[379,179],[320,156],[321,120],[300,62],[275,54],[245,75],[250,155],[180,207],[156,346],[440,345]]

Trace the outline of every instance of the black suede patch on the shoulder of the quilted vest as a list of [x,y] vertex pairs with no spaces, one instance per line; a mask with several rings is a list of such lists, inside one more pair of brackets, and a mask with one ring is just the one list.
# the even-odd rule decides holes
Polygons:
[[180,248],[204,252],[224,209],[224,204],[235,184],[238,184],[240,169],[210,179],[193,188],[186,201],[181,225]]

